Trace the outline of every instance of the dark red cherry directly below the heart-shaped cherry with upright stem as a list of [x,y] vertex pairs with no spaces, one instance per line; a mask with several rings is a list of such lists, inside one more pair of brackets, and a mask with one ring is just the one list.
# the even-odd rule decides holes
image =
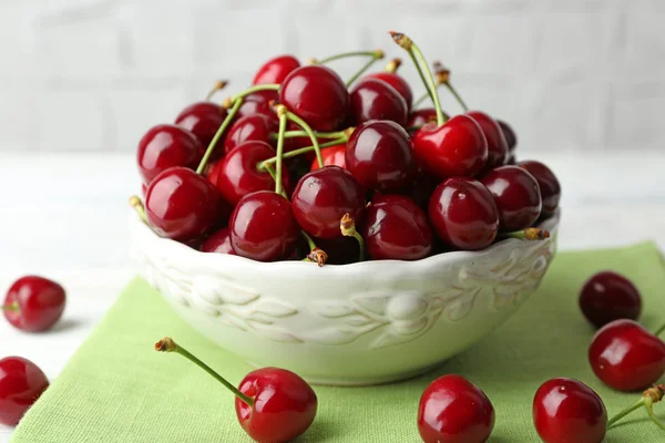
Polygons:
[[439,238],[456,248],[484,249],[499,231],[494,198],[473,178],[452,177],[437,186],[428,213]]

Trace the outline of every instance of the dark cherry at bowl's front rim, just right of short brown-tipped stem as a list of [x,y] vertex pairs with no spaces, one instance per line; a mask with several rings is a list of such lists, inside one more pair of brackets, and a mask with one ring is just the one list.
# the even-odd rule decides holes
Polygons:
[[427,215],[408,197],[375,195],[366,209],[362,237],[375,260],[418,260],[433,249]]

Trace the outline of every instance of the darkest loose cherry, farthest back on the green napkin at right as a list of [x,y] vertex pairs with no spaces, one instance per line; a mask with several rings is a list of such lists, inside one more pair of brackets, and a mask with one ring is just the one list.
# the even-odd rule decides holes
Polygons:
[[580,292],[582,313],[596,328],[618,319],[637,320],[642,297],[624,276],[603,271],[591,277]]

